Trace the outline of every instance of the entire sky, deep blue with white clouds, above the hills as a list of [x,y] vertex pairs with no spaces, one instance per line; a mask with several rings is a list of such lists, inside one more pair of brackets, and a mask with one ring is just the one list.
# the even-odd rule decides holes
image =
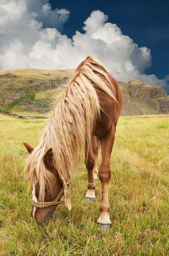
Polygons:
[[76,68],[87,55],[169,93],[169,1],[0,0],[0,70]]

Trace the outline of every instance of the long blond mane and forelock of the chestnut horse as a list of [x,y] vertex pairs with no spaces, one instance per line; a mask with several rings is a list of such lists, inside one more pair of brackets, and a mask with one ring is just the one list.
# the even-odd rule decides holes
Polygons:
[[85,148],[87,152],[89,150],[93,128],[100,116],[101,106],[96,88],[115,99],[106,84],[112,84],[110,73],[96,58],[88,56],[56,100],[39,145],[25,163],[29,187],[35,177],[39,183],[39,200],[43,201],[45,185],[50,184],[53,178],[45,168],[45,152],[53,148],[53,164],[60,179],[70,180],[79,162],[80,152]]

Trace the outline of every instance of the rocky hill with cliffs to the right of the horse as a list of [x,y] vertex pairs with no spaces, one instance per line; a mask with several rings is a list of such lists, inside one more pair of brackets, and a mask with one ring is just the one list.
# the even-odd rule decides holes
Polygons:
[[161,87],[138,80],[119,85],[124,100],[122,115],[169,114],[169,96]]

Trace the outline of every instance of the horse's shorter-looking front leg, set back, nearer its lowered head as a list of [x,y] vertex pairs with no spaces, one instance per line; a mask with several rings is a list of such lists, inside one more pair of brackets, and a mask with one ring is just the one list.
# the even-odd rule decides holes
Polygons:
[[[92,136],[93,137],[93,136]],[[95,201],[95,180],[94,180],[94,172],[93,172],[93,168],[95,166],[95,159],[93,157],[93,138],[91,141],[91,145],[90,145],[90,150],[88,152],[88,155],[86,156],[86,152],[85,152],[85,165],[87,168],[87,175],[88,175],[88,185],[87,185],[87,193],[85,195],[85,198],[90,200],[90,201]]]

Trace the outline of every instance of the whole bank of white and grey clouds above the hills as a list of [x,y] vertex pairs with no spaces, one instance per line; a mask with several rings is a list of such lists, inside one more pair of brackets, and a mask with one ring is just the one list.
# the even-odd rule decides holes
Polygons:
[[138,79],[169,89],[144,71],[152,65],[147,47],[138,47],[108,16],[97,10],[84,21],[84,33],[62,35],[70,12],[52,10],[48,0],[0,0],[0,70],[76,68],[87,55],[98,58],[118,81]]

